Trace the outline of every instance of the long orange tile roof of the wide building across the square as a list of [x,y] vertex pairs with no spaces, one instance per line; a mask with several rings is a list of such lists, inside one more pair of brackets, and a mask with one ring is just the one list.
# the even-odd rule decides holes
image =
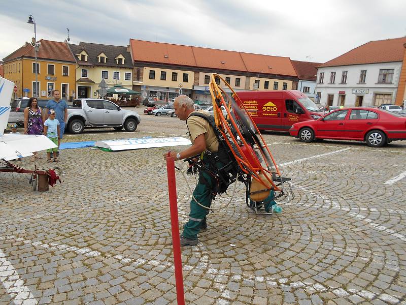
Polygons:
[[297,77],[289,57],[242,53],[136,39],[130,39],[130,46],[132,60],[135,62]]

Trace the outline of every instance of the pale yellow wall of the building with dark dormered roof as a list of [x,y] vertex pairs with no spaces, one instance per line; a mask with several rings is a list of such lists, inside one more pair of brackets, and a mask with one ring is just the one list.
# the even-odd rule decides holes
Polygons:
[[[103,67],[103,66],[78,66],[77,65],[76,69],[76,80],[80,79],[82,77],[82,69],[87,69],[87,78],[91,79],[94,81],[93,84],[91,83],[82,83],[82,82],[77,82],[76,86],[89,86],[90,88],[90,98],[94,98],[94,93],[96,92],[97,89],[99,89],[98,85],[101,82],[101,71],[107,71],[108,72],[108,78],[105,79],[107,86],[113,87],[114,85],[122,85],[123,87],[127,89],[132,89],[132,68],[121,68],[121,67]],[[120,79],[113,79],[114,77],[114,72],[119,72],[120,73]],[[125,80],[125,73],[130,74],[130,80]],[[78,92],[78,88],[76,90]]]

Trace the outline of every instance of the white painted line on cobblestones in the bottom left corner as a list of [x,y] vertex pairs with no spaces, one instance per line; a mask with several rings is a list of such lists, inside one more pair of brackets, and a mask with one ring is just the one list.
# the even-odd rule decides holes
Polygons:
[[[33,296],[32,292],[24,285],[24,280],[20,278],[19,273],[14,268],[14,266],[7,260],[6,254],[0,249],[0,266],[2,270],[7,267],[4,271],[0,271],[0,282],[3,284],[3,287],[6,289],[7,293],[11,296],[12,299],[19,301],[29,300],[29,302],[24,302],[24,304],[38,304],[37,299]],[[6,281],[7,278],[13,277],[12,281]],[[5,279],[5,280],[3,280]],[[14,297],[15,295],[15,297]],[[10,301],[11,304],[15,304],[13,300]]]

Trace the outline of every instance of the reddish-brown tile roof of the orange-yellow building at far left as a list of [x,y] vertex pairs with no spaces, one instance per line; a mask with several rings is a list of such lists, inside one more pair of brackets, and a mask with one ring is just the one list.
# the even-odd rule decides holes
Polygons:
[[[62,60],[64,62],[74,62],[75,58],[73,57],[71,51],[67,47],[66,43],[51,41],[41,39],[41,46],[39,52],[37,52],[37,58],[40,59],[52,59],[52,60]],[[9,60],[20,58],[20,57],[35,57],[34,47],[29,43],[26,43],[24,46],[14,51],[10,55],[3,58],[4,62]]]

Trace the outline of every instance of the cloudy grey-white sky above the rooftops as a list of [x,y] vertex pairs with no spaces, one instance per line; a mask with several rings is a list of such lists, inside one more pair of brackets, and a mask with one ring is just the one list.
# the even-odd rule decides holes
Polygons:
[[[0,59],[33,36],[72,43],[129,38],[324,63],[361,44],[406,36],[406,1],[0,0]],[[310,56],[310,57],[308,57]]]

